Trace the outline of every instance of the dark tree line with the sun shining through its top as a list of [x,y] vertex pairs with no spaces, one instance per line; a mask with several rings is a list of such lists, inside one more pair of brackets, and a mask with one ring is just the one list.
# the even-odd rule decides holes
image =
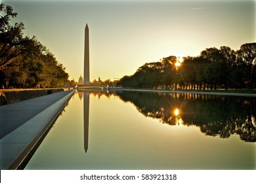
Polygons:
[[205,48],[200,56],[182,59],[179,63],[177,56],[169,56],[145,63],[117,85],[186,90],[256,88],[256,42],[242,44],[237,51],[228,46]]

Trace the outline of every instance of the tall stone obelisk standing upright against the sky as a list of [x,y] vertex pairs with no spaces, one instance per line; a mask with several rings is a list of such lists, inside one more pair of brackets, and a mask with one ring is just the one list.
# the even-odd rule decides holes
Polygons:
[[90,84],[90,69],[89,69],[89,27],[85,26],[85,58],[83,65],[83,84]]

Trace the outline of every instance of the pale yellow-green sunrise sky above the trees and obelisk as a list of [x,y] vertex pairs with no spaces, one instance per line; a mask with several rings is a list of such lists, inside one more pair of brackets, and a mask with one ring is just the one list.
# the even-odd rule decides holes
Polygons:
[[255,1],[1,0],[66,67],[83,76],[85,25],[89,25],[90,80],[133,75],[144,63],[198,56],[205,48],[238,50],[255,38]]

